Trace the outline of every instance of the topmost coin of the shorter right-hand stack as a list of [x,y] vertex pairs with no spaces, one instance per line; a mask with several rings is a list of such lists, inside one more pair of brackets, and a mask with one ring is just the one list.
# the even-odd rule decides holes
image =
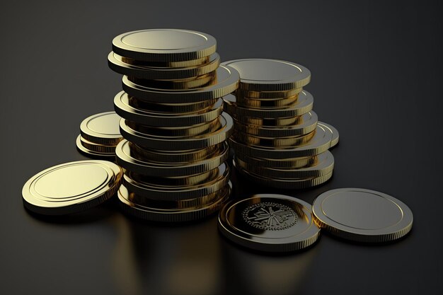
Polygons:
[[240,73],[240,88],[247,91],[287,91],[311,80],[304,66],[276,59],[236,59],[223,62]]

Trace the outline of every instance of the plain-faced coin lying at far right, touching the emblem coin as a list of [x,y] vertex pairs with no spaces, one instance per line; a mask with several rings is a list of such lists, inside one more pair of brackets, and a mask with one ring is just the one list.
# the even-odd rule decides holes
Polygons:
[[413,213],[399,199],[361,188],[323,192],[313,202],[313,215],[333,235],[359,242],[394,241],[413,225]]

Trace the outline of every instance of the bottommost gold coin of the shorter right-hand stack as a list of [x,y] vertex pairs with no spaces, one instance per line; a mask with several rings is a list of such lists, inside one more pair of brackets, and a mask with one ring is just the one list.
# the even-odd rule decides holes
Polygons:
[[253,181],[254,183],[260,183],[261,185],[265,185],[267,187],[274,187],[277,189],[283,189],[283,190],[301,190],[308,187],[314,187],[316,185],[321,185],[322,183],[326,183],[328,181],[333,173],[330,172],[328,174],[316,177],[316,178],[265,178],[261,175],[258,175],[256,173],[252,173],[250,171],[247,171],[241,167],[239,167],[235,161],[234,166],[237,168],[237,170],[241,173],[241,175],[245,176],[249,180]]

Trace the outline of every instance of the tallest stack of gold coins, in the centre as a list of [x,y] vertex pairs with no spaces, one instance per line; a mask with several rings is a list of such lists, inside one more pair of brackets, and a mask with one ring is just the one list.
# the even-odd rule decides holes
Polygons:
[[239,74],[220,66],[214,37],[190,30],[118,35],[108,64],[123,74],[114,99],[122,117],[117,163],[125,212],[151,221],[192,221],[229,198],[227,139],[234,130],[222,96]]

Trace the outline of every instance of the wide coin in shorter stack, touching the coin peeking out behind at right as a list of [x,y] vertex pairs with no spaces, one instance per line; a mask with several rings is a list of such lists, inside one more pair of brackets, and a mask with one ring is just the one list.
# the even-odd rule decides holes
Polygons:
[[317,126],[316,134],[309,143],[301,146],[292,146],[287,148],[274,148],[265,146],[248,146],[241,144],[235,139],[231,138],[231,146],[236,153],[251,156],[253,158],[272,158],[272,159],[284,159],[284,158],[299,158],[307,156],[315,156],[327,151],[330,147],[330,139],[332,133],[329,129],[325,129],[321,126]]

